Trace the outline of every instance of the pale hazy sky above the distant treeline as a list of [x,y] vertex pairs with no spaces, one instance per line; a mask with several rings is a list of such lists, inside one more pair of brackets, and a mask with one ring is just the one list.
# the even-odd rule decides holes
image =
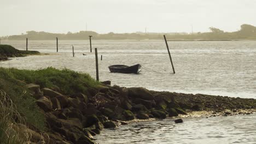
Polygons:
[[255,0],[0,0],[0,35],[237,31],[256,26]]

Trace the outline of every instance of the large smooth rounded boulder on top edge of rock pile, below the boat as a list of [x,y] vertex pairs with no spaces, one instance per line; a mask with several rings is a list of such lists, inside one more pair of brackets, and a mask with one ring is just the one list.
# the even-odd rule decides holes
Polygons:
[[143,87],[132,87],[127,88],[128,89],[128,95],[132,98],[141,98],[145,100],[153,100],[154,96],[152,93],[148,91],[148,89]]

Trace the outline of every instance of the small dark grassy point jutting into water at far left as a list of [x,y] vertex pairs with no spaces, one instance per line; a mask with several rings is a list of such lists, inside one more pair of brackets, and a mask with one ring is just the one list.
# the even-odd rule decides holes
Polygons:
[[0,45],[0,61],[7,60],[8,57],[24,57],[37,54],[39,54],[38,51],[22,51],[10,45]]

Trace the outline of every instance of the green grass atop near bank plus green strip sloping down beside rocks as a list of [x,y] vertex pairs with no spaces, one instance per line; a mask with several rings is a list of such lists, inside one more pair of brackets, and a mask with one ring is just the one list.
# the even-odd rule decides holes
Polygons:
[[[23,82],[22,82],[23,81]],[[19,70],[0,68],[0,90],[5,91],[27,123],[40,130],[45,128],[45,118],[33,97],[26,88],[26,82],[40,85],[41,88],[55,88],[66,95],[88,92],[88,88],[100,83],[89,74],[81,74],[68,69],[46,68],[40,70]]]

